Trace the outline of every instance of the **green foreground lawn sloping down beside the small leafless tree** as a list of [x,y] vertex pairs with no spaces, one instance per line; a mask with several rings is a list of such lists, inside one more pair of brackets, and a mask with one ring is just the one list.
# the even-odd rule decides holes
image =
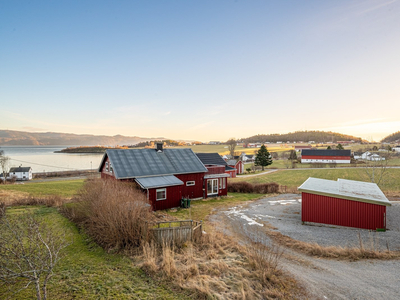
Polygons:
[[[106,253],[55,208],[14,207],[7,213],[13,217],[27,209],[39,214],[52,228],[65,231],[73,241],[50,281],[49,299],[190,299],[152,280],[128,257]],[[4,286],[0,286],[0,295],[1,299],[9,296]],[[33,286],[11,299],[36,299]]]

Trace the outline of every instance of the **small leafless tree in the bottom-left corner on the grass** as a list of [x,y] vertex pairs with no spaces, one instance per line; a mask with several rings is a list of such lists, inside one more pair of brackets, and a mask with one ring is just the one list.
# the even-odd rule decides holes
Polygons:
[[0,233],[0,284],[11,294],[34,284],[37,299],[47,299],[54,266],[69,245],[65,235],[28,213],[18,217],[3,214]]

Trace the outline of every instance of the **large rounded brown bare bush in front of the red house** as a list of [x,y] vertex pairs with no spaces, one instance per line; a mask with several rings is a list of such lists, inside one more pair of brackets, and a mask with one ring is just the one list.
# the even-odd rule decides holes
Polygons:
[[62,213],[104,248],[133,249],[147,240],[147,223],[154,217],[146,195],[132,183],[88,181],[75,201]]

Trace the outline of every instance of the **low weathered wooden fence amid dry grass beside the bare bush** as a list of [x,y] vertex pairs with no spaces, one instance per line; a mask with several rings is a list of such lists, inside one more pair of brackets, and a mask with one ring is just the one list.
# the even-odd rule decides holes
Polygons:
[[150,224],[150,234],[158,244],[180,245],[187,241],[198,241],[203,233],[203,222],[184,220],[156,222]]

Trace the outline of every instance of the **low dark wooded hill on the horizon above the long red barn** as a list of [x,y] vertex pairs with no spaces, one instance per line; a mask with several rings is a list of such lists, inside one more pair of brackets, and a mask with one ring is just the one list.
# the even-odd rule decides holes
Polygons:
[[248,138],[243,138],[245,143],[276,143],[276,142],[309,142],[317,143],[337,142],[337,141],[355,141],[362,142],[362,139],[352,135],[341,134],[337,132],[325,131],[296,131],[286,134],[258,134]]

